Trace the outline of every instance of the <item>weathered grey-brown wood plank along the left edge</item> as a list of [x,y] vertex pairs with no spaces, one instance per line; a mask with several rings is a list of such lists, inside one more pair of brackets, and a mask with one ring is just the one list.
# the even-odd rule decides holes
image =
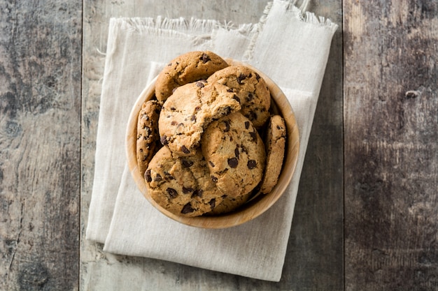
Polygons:
[[81,1],[0,7],[0,290],[77,290]]

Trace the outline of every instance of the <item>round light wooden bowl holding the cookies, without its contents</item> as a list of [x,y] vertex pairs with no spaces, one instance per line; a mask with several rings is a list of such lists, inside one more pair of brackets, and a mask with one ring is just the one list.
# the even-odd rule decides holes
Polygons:
[[287,128],[287,140],[285,149],[285,158],[283,160],[283,169],[281,170],[280,177],[278,178],[278,183],[275,188],[266,195],[258,195],[249,202],[246,202],[242,207],[239,207],[236,211],[229,214],[222,214],[218,216],[197,216],[197,217],[184,217],[172,214],[163,207],[161,207],[155,200],[153,200],[149,195],[146,188],[146,183],[143,176],[140,174],[137,167],[136,160],[136,126],[137,117],[141,110],[141,105],[146,101],[154,97],[155,94],[155,80],[151,82],[146,89],[141,92],[139,98],[136,100],[132,112],[129,115],[129,121],[127,125],[127,135],[126,135],[126,150],[129,170],[134,177],[136,185],[143,193],[144,197],[153,204],[155,208],[162,212],[162,214],[168,216],[185,225],[191,225],[195,227],[202,228],[225,228],[240,225],[247,221],[250,221],[260,214],[267,211],[285,192],[288,187],[292,175],[295,172],[295,167],[297,165],[298,151],[299,151],[299,133],[297,122],[295,121],[295,115],[292,111],[288,99],[283,94],[281,89],[264,73],[260,72],[256,68],[249,66],[248,64],[243,64],[239,61],[234,61],[232,59],[225,59],[230,66],[248,66],[252,70],[255,70],[264,81],[267,83],[269,90],[271,91],[271,110],[279,113],[285,119],[285,125]]

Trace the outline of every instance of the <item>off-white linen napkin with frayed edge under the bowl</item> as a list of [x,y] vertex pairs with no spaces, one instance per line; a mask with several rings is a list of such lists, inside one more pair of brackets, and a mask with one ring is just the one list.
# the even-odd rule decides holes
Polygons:
[[[104,251],[111,253],[280,280],[313,114],[337,29],[294,3],[268,3],[260,23],[236,28],[214,20],[111,20],[87,239],[104,242]],[[282,87],[299,127],[299,158],[286,193],[262,216],[224,230],[190,227],[160,214],[137,190],[121,142],[132,105],[148,80],[162,64],[190,50],[212,50],[262,70]]]

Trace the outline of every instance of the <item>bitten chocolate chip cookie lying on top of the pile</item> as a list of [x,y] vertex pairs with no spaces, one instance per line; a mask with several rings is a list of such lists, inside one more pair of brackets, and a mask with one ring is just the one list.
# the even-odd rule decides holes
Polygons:
[[160,140],[178,156],[195,154],[204,128],[213,120],[241,109],[222,84],[198,81],[178,87],[164,102]]

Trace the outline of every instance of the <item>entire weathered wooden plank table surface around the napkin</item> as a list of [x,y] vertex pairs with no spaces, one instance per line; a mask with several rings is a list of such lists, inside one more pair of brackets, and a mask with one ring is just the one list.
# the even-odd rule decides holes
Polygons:
[[109,18],[240,24],[266,2],[0,0],[0,290],[438,290],[435,0],[311,1],[339,29],[281,282],[85,240]]

